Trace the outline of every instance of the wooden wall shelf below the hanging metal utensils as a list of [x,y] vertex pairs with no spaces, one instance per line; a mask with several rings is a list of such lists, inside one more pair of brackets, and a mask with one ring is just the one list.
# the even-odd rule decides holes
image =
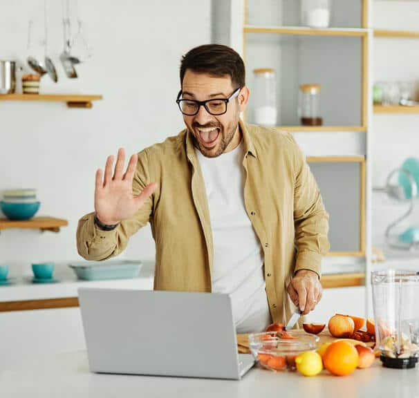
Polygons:
[[68,108],[91,108],[92,101],[102,99],[102,95],[76,94],[1,94],[0,101],[46,101],[66,102]]

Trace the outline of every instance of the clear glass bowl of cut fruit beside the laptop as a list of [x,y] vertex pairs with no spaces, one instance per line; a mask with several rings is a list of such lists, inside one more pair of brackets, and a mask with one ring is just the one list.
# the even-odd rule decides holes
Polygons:
[[304,330],[249,334],[249,347],[262,368],[275,372],[295,370],[295,357],[304,351],[315,351],[319,337]]

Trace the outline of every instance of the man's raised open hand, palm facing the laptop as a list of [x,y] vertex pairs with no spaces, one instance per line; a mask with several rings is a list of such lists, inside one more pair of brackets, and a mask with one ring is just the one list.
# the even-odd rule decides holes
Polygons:
[[95,180],[95,212],[97,218],[106,225],[118,224],[131,218],[156,190],[157,184],[148,184],[138,196],[133,196],[132,182],[137,166],[137,155],[129,158],[127,171],[123,173],[125,151],[120,148],[113,169],[113,155],[106,159],[104,178],[102,169],[97,169]]

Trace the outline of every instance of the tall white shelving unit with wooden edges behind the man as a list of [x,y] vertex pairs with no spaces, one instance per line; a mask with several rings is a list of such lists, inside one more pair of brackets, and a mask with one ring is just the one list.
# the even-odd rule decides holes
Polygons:
[[[330,227],[335,232],[339,228],[335,244],[341,245],[330,249],[325,265],[348,265],[351,269],[345,276],[333,276],[330,286],[335,287],[363,285],[371,262],[371,178],[367,161],[373,111],[369,101],[373,38],[370,1],[334,0],[330,28],[320,29],[299,26],[299,0],[226,0],[212,5],[216,21],[212,40],[242,55],[251,93],[252,70],[277,71],[277,129],[290,131],[304,150],[316,180],[325,185],[325,199],[329,203],[332,199],[334,220],[339,211],[352,215],[349,227],[339,227],[341,220]],[[323,126],[299,125],[299,85],[309,83],[322,86]],[[245,113],[250,123],[252,106],[251,96]],[[335,191],[333,184],[338,187]],[[349,186],[353,191],[346,191]],[[350,193],[350,210],[346,206],[342,209],[347,200],[342,198],[342,191]],[[348,236],[351,243],[346,247],[345,234],[353,234]]]

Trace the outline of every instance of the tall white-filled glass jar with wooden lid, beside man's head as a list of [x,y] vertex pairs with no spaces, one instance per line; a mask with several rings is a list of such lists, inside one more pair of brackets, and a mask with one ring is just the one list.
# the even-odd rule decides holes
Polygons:
[[277,125],[277,77],[272,68],[253,70],[254,124]]

